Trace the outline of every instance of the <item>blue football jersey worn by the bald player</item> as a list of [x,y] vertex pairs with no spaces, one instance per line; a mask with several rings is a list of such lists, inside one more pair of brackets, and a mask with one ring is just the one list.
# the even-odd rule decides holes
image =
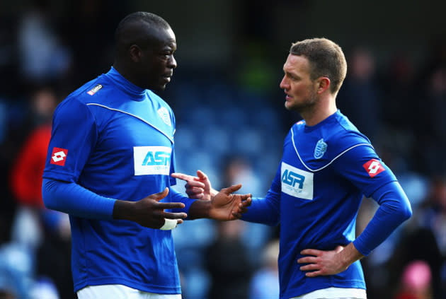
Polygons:
[[[112,68],[55,110],[43,177],[137,201],[175,184],[169,176],[174,132],[166,102]],[[70,216],[70,221],[74,291],[119,283],[151,293],[181,293],[170,230],[123,220]]]

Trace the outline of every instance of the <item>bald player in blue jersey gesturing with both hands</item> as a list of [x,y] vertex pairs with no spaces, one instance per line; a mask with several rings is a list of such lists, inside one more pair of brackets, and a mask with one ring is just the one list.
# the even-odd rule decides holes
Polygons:
[[154,90],[171,81],[176,38],[166,20],[137,12],[116,29],[108,73],[60,103],[52,123],[42,194],[69,213],[79,299],[181,298],[171,229],[183,219],[241,217],[249,194],[210,200],[171,189],[175,117]]

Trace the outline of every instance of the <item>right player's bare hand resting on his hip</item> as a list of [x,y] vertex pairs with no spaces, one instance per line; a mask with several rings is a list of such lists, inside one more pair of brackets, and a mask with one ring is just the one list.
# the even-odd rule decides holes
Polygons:
[[297,259],[297,263],[304,264],[300,266],[300,269],[302,271],[308,271],[305,273],[307,277],[338,274],[345,271],[350,265],[349,263],[345,264],[341,258],[343,249],[343,246],[338,246],[335,250],[327,251],[314,249],[302,250],[300,253],[308,256]]

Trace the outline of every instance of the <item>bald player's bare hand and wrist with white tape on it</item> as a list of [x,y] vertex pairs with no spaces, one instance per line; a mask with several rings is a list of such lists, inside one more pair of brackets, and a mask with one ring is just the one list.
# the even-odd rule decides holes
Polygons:
[[[168,188],[163,192],[151,194],[139,201],[116,201],[113,216],[117,219],[135,221],[147,228],[172,229],[183,223],[186,213],[169,213],[165,209],[182,209],[181,202],[159,202],[168,194]],[[171,219],[173,221],[171,221]],[[176,223],[175,223],[176,222]],[[163,225],[166,226],[163,228]]]

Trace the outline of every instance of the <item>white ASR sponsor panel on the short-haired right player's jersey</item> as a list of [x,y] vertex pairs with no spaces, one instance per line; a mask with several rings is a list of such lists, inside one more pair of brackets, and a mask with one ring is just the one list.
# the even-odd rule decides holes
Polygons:
[[282,162],[280,168],[282,192],[300,199],[313,199],[313,176],[312,172]]

